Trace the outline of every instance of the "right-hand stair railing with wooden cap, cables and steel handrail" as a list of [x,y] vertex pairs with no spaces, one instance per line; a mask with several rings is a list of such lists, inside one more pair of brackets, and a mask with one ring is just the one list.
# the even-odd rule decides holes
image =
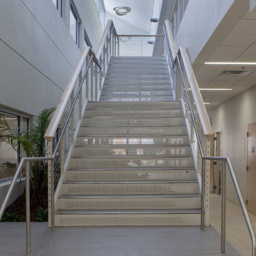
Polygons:
[[[254,227],[244,204],[238,181],[229,157],[210,157],[210,137],[213,136],[212,126],[205,110],[196,77],[188,56],[187,49],[176,49],[170,21],[165,21],[165,53],[171,71],[172,89],[176,101],[182,101],[185,118],[190,133],[191,146],[196,163],[197,174],[201,176],[201,229],[205,222],[208,226],[210,160],[222,161],[221,171],[221,252],[225,252],[226,245],[226,166],[229,168],[238,201],[246,221],[247,229],[252,240],[252,256],[256,255],[256,237]],[[206,164],[205,164],[206,161]],[[205,170],[206,169],[206,170]]]

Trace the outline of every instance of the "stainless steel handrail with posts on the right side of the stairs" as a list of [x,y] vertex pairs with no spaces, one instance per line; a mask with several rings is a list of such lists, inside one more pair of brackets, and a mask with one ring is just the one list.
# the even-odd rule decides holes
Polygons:
[[225,252],[225,244],[226,244],[226,165],[229,168],[229,172],[230,172],[230,176],[232,177],[232,181],[233,181],[233,185],[235,187],[235,191],[236,194],[238,196],[238,200],[240,202],[240,206],[244,215],[244,219],[246,221],[246,225],[247,225],[247,229],[249,230],[249,234],[251,236],[251,240],[252,240],[252,256],[256,256],[256,236],[255,236],[255,231],[254,231],[254,227],[252,226],[252,222],[251,219],[249,217],[249,214],[247,212],[246,209],[246,205],[244,204],[244,200],[243,200],[243,196],[241,194],[241,190],[240,187],[238,185],[238,181],[236,179],[235,176],[235,172],[233,170],[233,166],[231,163],[231,160],[229,157],[208,157],[204,155],[204,151],[202,148],[202,143],[199,137],[199,133],[197,131],[197,127],[196,127],[196,121],[194,118],[194,112],[192,110],[191,107],[191,102],[190,102],[190,98],[188,96],[188,89],[185,83],[185,76],[183,74],[182,71],[182,66],[180,64],[180,59],[179,59],[179,55],[180,57],[182,57],[181,53],[180,53],[180,49],[177,51],[176,57],[174,60],[172,60],[171,57],[171,50],[169,48],[169,41],[167,40],[167,36],[166,36],[166,27],[163,27],[163,30],[165,32],[165,40],[168,46],[168,52],[169,52],[169,57],[171,60],[171,68],[174,68],[175,63],[177,62],[180,68],[180,74],[182,76],[182,84],[183,87],[185,89],[185,94],[188,100],[188,107],[190,108],[190,114],[191,114],[191,118],[192,118],[192,123],[194,126],[194,131],[196,133],[196,138],[197,138],[197,143],[199,146],[199,151],[202,157],[202,188],[201,188],[201,229],[204,229],[204,213],[205,213],[205,169],[204,169],[204,160],[214,160],[214,161],[222,161],[222,179],[221,179],[221,187],[222,187],[222,203],[221,203],[221,252],[224,253]]

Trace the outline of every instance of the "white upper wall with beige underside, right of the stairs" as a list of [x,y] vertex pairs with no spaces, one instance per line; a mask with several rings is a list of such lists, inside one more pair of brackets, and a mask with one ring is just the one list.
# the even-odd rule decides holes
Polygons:
[[196,71],[215,51],[249,9],[249,0],[189,1],[180,24],[176,45],[188,49]]

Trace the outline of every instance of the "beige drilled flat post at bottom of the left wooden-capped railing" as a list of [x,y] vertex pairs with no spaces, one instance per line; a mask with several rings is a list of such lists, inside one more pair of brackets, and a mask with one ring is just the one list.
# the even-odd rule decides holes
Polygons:
[[[47,141],[48,144],[48,157],[52,157],[52,140]],[[54,191],[52,191],[52,176],[54,176],[54,169],[53,161],[48,161],[48,225],[52,227],[52,194],[54,197]],[[53,177],[54,180],[54,177]]]

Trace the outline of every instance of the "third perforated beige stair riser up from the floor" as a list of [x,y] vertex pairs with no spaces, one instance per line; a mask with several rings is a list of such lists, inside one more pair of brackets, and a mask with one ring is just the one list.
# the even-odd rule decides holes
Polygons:
[[62,184],[62,194],[198,194],[197,182]]

